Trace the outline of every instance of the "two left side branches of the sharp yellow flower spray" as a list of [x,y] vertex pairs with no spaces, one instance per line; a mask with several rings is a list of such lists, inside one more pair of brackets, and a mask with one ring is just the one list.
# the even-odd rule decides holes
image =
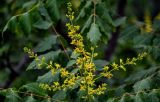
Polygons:
[[72,88],[75,85],[76,81],[79,79],[79,76],[75,77],[74,74],[67,71],[66,68],[61,67],[61,65],[58,63],[55,63],[54,65],[52,61],[50,61],[49,63],[46,63],[44,57],[39,58],[37,54],[31,51],[31,49],[28,49],[27,47],[25,47],[24,51],[28,53],[30,58],[35,59],[39,68],[41,68],[41,66],[46,66],[46,68],[52,72],[53,76],[58,71],[60,71],[61,77],[65,78],[63,84],[60,84],[59,82],[53,82],[52,85],[43,83],[43,84],[40,84],[40,87],[43,87],[44,89],[47,89],[47,90],[53,90],[53,91]]

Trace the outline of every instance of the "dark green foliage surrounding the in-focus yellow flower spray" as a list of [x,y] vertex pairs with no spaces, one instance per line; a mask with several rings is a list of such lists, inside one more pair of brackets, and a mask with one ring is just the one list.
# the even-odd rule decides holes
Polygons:
[[[86,49],[91,45],[98,46],[96,52],[99,55],[94,60],[97,69],[101,70],[111,62],[118,63],[119,59],[135,57],[140,52],[147,52],[148,55],[136,66],[127,66],[126,72],[118,71],[112,79],[102,79],[108,84],[108,90],[95,101],[159,102],[160,1],[96,1],[95,21],[92,0],[71,0],[71,3],[76,15],[74,23],[81,26],[79,32],[84,36]],[[32,48],[38,56],[45,56],[47,60],[64,66],[70,64],[63,49],[75,57],[71,55],[73,46],[65,27],[69,0],[0,2],[0,87],[8,89],[0,92],[1,98],[6,102],[10,99],[13,102],[45,102],[48,99],[18,93],[16,90],[19,89],[67,100],[70,96],[64,92],[48,93],[38,87],[36,81],[51,83],[58,77],[52,77],[47,70],[38,70],[36,63],[23,52],[23,47]],[[92,26],[93,22],[96,26]],[[91,33],[95,33],[94,36]],[[74,101],[72,98],[70,101]]]

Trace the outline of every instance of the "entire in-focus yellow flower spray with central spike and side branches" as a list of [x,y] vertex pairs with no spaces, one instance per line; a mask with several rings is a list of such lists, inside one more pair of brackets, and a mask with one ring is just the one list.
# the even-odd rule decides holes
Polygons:
[[[34,58],[38,62],[38,66],[46,66],[52,72],[54,76],[56,73],[60,73],[61,81],[56,81],[49,84],[41,83],[40,87],[50,90],[68,90],[73,89],[75,86],[78,86],[79,91],[84,91],[86,93],[83,98],[94,98],[95,95],[104,94],[107,89],[106,83],[102,83],[98,87],[96,86],[96,80],[101,77],[111,78],[113,76],[112,71],[125,69],[125,65],[135,64],[137,60],[141,60],[146,53],[138,55],[138,58],[127,59],[124,63],[123,60],[120,59],[120,64],[113,63],[110,66],[104,66],[103,72],[100,75],[96,74],[96,66],[93,63],[93,59],[97,56],[97,53],[94,52],[94,48],[91,47],[91,52],[87,52],[84,49],[83,37],[78,30],[79,26],[73,25],[74,20],[74,12],[72,12],[72,5],[68,3],[68,14],[66,15],[70,20],[70,23],[67,23],[66,26],[68,28],[68,36],[71,38],[71,44],[75,46],[73,53],[78,54],[79,56],[76,60],[76,68],[78,69],[77,73],[70,72],[67,68],[63,68],[60,64],[54,63],[50,61],[46,63],[45,58],[39,58],[34,52],[32,52],[28,48],[24,48],[25,52],[29,54],[31,58]],[[110,70],[110,68],[112,68]]]

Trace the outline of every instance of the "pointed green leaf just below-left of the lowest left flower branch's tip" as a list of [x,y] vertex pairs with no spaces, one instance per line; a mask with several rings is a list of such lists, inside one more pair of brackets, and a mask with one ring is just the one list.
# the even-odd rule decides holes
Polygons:
[[27,91],[29,92],[43,95],[43,96],[47,95],[46,91],[42,89],[41,87],[39,87],[38,83],[29,83],[29,84],[23,85],[20,89],[27,89]]

